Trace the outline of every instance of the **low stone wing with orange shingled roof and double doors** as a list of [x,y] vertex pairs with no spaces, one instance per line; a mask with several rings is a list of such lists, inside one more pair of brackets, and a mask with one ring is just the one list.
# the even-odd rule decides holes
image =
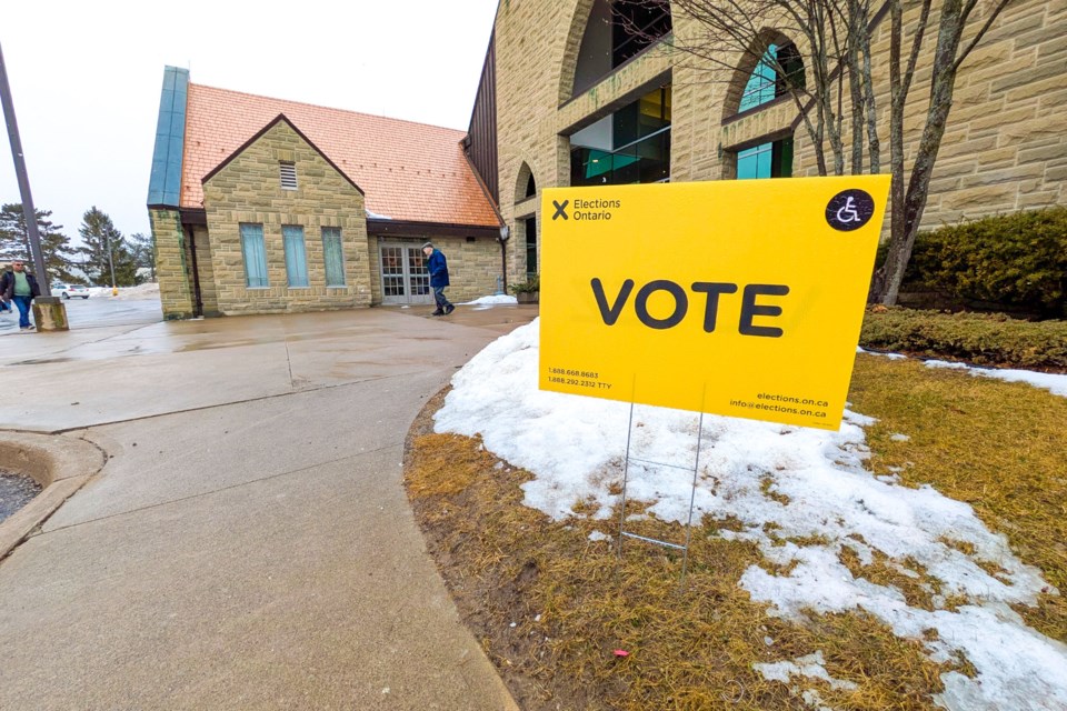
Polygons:
[[168,319],[500,290],[500,219],[462,131],[190,83],[168,67],[148,208]]

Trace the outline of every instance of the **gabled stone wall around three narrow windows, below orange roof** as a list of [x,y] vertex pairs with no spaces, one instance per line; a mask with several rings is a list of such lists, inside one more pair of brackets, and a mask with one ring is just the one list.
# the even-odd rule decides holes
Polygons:
[[[296,190],[281,188],[279,163],[296,166]],[[371,303],[363,196],[285,121],[271,127],[203,186],[210,272],[219,313],[277,313],[366,307]],[[267,288],[249,288],[240,224],[262,224]],[[307,288],[289,288],[282,226],[305,232]],[[321,230],[341,230],[342,288],[326,286]],[[199,233],[197,236],[199,238]],[[198,256],[200,243],[198,239]],[[207,308],[207,304],[206,304]]]

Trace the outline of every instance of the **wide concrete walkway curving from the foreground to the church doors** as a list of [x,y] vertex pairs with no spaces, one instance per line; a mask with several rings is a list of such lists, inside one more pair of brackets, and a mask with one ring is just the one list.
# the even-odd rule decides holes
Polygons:
[[0,429],[109,459],[0,562],[0,708],[515,708],[400,462],[427,398],[537,311],[423,311],[4,339]]

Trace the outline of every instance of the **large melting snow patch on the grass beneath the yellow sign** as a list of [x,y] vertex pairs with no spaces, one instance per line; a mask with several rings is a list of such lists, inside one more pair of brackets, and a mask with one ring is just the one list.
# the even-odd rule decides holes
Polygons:
[[[577,504],[592,503],[590,518],[607,519],[619,502],[611,491],[622,478],[630,405],[538,390],[539,326],[535,320],[490,343],[456,373],[435,429],[481,434],[491,452],[534,473],[522,484],[526,505],[564,521],[579,518]],[[862,428],[872,422],[846,410],[840,429],[826,432],[705,415],[697,452],[697,414],[638,405],[631,457],[690,470],[631,464],[627,495],[650,502],[648,512],[659,519],[684,523],[699,458],[697,519],[736,519],[741,530],[721,530],[721,538],[749,541],[789,570],[779,575],[754,565],[739,581],[771,614],[799,620],[811,611],[865,610],[897,635],[923,641],[935,661],[966,655],[976,679],[944,675],[939,700],[953,711],[1067,709],[1067,648],[1026,627],[1009,607],[1058,591],[966,503],[867,471]],[[937,580],[940,595],[964,603],[913,608],[897,588],[854,577],[841,562],[846,550],[864,564],[879,552],[917,577],[906,562],[914,560]],[[935,608],[944,597],[934,598]],[[937,635],[926,633],[931,629]]]

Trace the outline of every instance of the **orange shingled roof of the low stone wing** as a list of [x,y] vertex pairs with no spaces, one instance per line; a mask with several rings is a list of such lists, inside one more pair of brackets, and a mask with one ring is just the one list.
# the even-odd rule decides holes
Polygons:
[[192,83],[181,207],[203,207],[203,177],[279,113],[363,190],[368,212],[416,222],[499,224],[463,157],[462,131]]

